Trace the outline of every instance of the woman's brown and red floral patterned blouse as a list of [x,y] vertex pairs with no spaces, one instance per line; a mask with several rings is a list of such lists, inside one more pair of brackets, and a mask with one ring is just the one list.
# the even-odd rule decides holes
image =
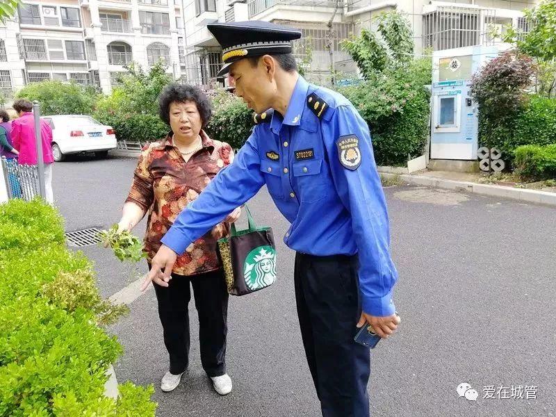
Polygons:
[[[160,142],[146,145],[139,156],[133,184],[126,202],[140,206],[149,213],[145,251],[152,261],[161,247],[161,238],[172,227],[177,216],[197,198],[217,172],[234,159],[230,145],[211,140],[200,133],[202,149],[186,162],[168,135]],[[220,268],[216,254],[217,241],[228,236],[229,224],[220,223],[192,243],[178,256],[172,272],[178,275],[197,275]]]

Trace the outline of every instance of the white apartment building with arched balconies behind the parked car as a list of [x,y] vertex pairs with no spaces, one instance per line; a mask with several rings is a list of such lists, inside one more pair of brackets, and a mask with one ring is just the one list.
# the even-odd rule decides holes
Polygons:
[[[0,24],[0,90],[43,80],[110,92],[125,65],[163,58],[181,77],[182,0],[29,0]],[[183,59],[182,59],[183,61]]]

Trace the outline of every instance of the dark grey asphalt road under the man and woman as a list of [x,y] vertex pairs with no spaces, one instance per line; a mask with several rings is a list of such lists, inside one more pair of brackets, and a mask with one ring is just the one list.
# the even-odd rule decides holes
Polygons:
[[[77,157],[56,164],[54,193],[67,231],[117,221],[135,163]],[[555,210],[426,188],[385,192],[402,325],[372,352],[373,416],[555,415]],[[154,384],[158,416],[320,415],[295,313],[294,253],[281,243],[287,222],[264,188],[250,206],[256,220],[275,231],[279,277],[265,291],[231,297],[227,363],[233,393],[221,398],[204,376],[193,301],[190,367],[172,393],[158,388],[167,354],[154,291],[109,329],[125,350],[115,366],[118,380]],[[140,224],[135,233],[144,229]],[[129,283],[129,270],[111,252],[83,252],[95,261],[103,295]],[[459,398],[461,382],[477,391],[475,402]],[[485,386],[495,387],[494,398],[484,398]],[[512,386],[535,388],[504,399]]]

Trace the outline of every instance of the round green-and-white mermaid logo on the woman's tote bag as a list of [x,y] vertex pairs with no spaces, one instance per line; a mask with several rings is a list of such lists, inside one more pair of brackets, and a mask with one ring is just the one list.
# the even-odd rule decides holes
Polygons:
[[245,284],[251,291],[265,288],[276,281],[276,252],[271,246],[259,246],[245,258]]

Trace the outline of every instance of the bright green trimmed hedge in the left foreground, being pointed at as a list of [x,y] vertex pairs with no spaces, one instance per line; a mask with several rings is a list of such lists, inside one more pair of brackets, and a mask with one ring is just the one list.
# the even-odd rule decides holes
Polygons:
[[90,262],[65,247],[60,215],[14,199],[0,224],[0,416],[154,416],[152,386],[104,397],[122,347],[99,324],[126,308],[101,299]]

